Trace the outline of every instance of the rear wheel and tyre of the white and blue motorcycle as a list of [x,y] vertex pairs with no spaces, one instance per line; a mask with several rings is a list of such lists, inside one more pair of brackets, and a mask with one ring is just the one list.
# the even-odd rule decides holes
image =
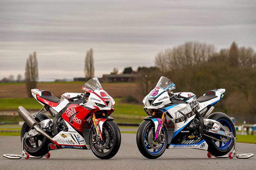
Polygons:
[[[235,126],[228,115],[215,112],[210,114],[207,119],[213,119],[220,122],[228,131],[232,132],[235,136]],[[216,139],[224,140],[225,142],[218,141],[207,136],[204,136],[206,143],[208,144],[208,152],[214,156],[223,156],[230,152],[234,146],[234,140],[228,137],[223,137],[217,134],[208,133],[207,135],[213,136]]]

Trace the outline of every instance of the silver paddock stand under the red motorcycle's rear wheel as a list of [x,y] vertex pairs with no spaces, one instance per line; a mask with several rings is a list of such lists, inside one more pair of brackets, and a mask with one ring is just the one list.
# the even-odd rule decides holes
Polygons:
[[43,158],[45,156],[45,158],[49,159],[50,158],[50,153],[48,152],[47,154],[45,154],[44,156],[40,156],[40,157],[36,157],[36,156],[29,156],[29,154],[24,150],[24,137],[21,138],[21,155],[16,155],[16,154],[3,154],[3,157],[8,158],[8,159],[21,159],[21,158],[25,158],[25,159],[39,159],[39,158]]

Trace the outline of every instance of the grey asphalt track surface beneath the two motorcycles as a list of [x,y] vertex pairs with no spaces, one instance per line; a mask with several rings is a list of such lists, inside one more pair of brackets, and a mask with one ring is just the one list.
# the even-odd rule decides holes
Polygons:
[[[255,169],[256,156],[250,159],[207,158],[207,151],[168,149],[158,159],[146,159],[136,145],[136,134],[122,133],[119,152],[110,160],[98,159],[91,150],[62,149],[50,151],[50,159],[1,157],[0,169]],[[18,136],[1,136],[0,154],[20,154]],[[237,143],[237,153],[256,154],[256,145]]]

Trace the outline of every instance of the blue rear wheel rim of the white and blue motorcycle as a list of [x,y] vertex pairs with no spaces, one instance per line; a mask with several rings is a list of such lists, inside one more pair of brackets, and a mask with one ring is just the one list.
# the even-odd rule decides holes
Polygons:
[[[217,121],[220,122],[224,127],[228,128],[228,130],[233,133],[232,125],[231,125],[231,123],[228,120],[226,120],[226,119],[219,119]],[[220,135],[215,135],[215,137],[217,139],[220,139],[220,140],[221,140],[221,138],[223,138]],[[216,147],[218,149],[225,150],[225,149],[227,149],[231,145],[232,139],[229,138],[226,142],[222,142],[222,141],[218,141],[218,140],[213,140],[213,143],[216,145]]]

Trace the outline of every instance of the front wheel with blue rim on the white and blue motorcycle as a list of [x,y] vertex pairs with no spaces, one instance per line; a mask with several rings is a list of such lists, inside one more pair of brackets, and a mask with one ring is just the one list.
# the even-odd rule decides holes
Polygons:
[[150,120],[144,120],[137,131],[136,142],[140,153],[148,159],[159,158],[165,151],[167,146],[167,131],[163,127],[161,134],[164,135],[164,143],[150,140],[155,135],[154,123]]

